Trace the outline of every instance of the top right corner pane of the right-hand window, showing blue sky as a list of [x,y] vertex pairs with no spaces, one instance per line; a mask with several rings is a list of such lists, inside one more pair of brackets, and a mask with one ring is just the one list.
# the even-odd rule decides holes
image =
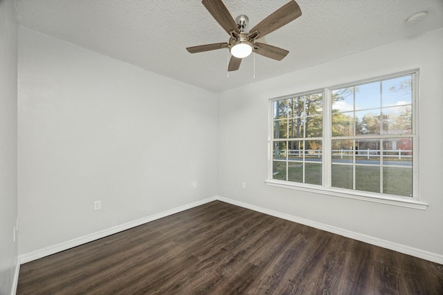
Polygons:
[[412,82],[412,75],[387,79],[381,82],[382,105],[401,106],[404,104],[412,104]]

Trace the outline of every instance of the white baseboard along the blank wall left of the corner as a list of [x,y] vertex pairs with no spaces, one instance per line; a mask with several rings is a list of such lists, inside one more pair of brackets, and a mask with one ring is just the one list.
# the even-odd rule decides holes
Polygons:
[[[185,211],[185,210],[188,210],[188,209],[200,206],[202,204],[206,204],[208,202],[213,202],[215,200],[217,200],[216,197],[206,198],[204,200],[199,200],[197,202],[192,202],[190,204],[186,204],[186,205],[183,205],[181,207],[177,207],[177,208],[174,208],[174,209],[170,209],[170,210],[167,210],[167,211],[156,213],[156,214],[154,214],[152,216],[147,216],[147,217],[140,218],[140,219],[137,219],[137,220],[134,220],[134,221],[131,221],[131,222],[126,222],[123,225],[117,225],[116,227],[110,227],[109,229],[103,229],[102,231],[98,231],[98,232],[93,233],[93,234],[89,234],[89,235],[86,235],[86,236],[81,236],[80,238],[75,238],[73,240],[68,240],[66,242],[61,242],[60,244],[53,245],[53,246],[50,246],[50,247],[46,247],[44,249],[39,249],[39,250],[36,250],[36,251],[32,251],[32,252],[30,252],[28,254],[23,254],[23,255],[19,256],[19,263],[21,263],[21,264],[28,263],[30,261],[37,260],[39,258],[43,258],[45,256],[52,255],[52,254],[55,254],[55,253],[60,252],[60,251],[71,249],[73,247],[77,247],[77,246],[83,245],[83,244],[85,244],[87,242],[92,242],[93,240],[98,240],[99,238],[105,238],[105,236],[110,236],[110,235],[116,234],[116,233],[118,233],[120,231],[125,231],[127,229],[132,229],[132,227],[138,227],[138,225],[143,225],[143,224],[145,224],[147,222],[150,222],[150,221],[153,221],[153,220],[157,220],[157,219],[160,219],[160,218],[163,218],[163,217],[166,217],[166,216],[170,216],[172,214],[179,213],[181,211]],[[17,278],[18,278],[18,275],[17,275]]]

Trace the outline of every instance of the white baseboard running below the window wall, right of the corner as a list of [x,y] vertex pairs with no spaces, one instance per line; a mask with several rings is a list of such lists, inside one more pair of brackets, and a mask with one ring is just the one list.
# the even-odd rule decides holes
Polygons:
[[331,225],[325,225],[324,223],[320,223],[320,222],[315,222],[312,220],[308,220],[305,218],[300,218],[300,217],[296,217],[296,216],[292,216],[286,213],[281,213],[278,211],[273,211],[270,209],[266,209],[263,207],[258,207],[252,204],[247,204],[244,202],[239,202],[236,200],[232,200],[229,198],[224,198],[221,196],[216,196],[215,197],[217,200],[220,200],[222,202],[227,202],[229,204],[234,204],[237,205],[239,207],[243,207],[246,209],[251,209],[253,211],[257,211],[257,212],[261,212],[261,213],[265,213],[271,216],[275,216],[278,218],[282,218],[285,220],[289,220],[289,221],[293,221],[293,222],[297,222],[300,223],[302,225],[307,225],[309,227],[315,227],[316,229],[322,229],[323,231],[328,231],[332,234],[338,234],[340,236],[345,236],[347,238],[353,238],[354,240],[359,240],[361,242],[367,242],[368,244],[371,245],[375,245],[375,246],[379,246],[379,247],[383,247],[386,249],[390,249],[390,250],[394,250],[403,254],[408,254],[410,256],[415,256],[418,258],[422,258],[425,260],[429,260],[432,261],[434,263],[440,263],[443,264],[443,255],[440,254],[435,254],[432,252],[428,252],[428,251],[424,251],[421,249],[416,249],[413,247],[409,247],[409,246],[405,246],[405,245],[401,245],[398,244],[396,242],[390,242],[388,240],[382,240],[380,238],[374,238],[372,236],[366,236],[364,234],[359,234],[356,233],[354,231],[348,231],[347,229],[341,229],[340,227],[332,227]]

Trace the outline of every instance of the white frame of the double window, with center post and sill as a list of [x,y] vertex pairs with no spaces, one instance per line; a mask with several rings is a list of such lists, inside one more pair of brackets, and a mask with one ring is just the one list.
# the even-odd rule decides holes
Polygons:
[[[413,197],[402,197],[395,195],[388,195],[386,193],[372,193],[368,191],[356,191],[353,189],[340,189],[332,187],[332,91],[338,88],[345,88],[350,86],[356,86],[359,84],[366,84],[370,82],[377,82],[383,79],[391,79],[404,75],[413,76],[413,93],[412,93],[412,106],[413,106]],[[323,185],[318,184],[306,184],[301,182],[291,182],[286,180],[273,179],[273,102],[287,99],[291,97],[298,97],[311,93],[323,92]],[[419,153],[418,153],[418,95],[419,95],[419,69],[407,70],[400,73],[394,73],[390,75],[383,75],[379,77],[373,77],[370,79],[364,79],[356,82],[350,82],[346,84],[340,84],[335,86],[329,86],[320,88],[314,91],[305,91],[302,93],[296,93],[293,95],[284,95],[282,97],[275,97],[269,99],[269,127],[268,127],[268,179],[265,183],[272,187],[282,187],[286,189],[296,189],[299,191],[309,191],[314,193],[321,193],[329,196],[336,196],[341,198],[352,198],[356,200],[363,200],[368,202],[377,202],[381,204],[390,204],[400,207],[408,207],[413,209],[426,210],[428,204],[422,202],[419,198]],[[383,135],[378,135],[377,138],[381,138]]]

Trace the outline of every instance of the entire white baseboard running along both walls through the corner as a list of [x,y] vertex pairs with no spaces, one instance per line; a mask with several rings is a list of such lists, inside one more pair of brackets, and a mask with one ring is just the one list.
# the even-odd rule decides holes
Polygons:
[[[359,233],[356,233],[354,231],[348,231],[347,229],[341,229],[339,227],[333,227],[331,225],[326,225],[324,223],[315,222],[315,221],[308,220],[308,219],[305,219],[305,218],[299,218],[299,217],[292,216],[292,215],[289,215],[289,214],[286,214],[286,213],[282,213],[282,212],[278,212],[278,211],[273,211],[273,210],[266,209],[266,208],[263,208],[263,207],[255,206],[253,204],[248,204],[248,203],[245,203],[245,202],[239,202],[239,201],[232,200],[232,199],[229,199],[229,198],[224,198],[224,197],[221,197],[221,196],[214,196],[214,197],[211,197],[211,198],[206,198],[204,200],[199,200],[199,201],[193,202],[191,204],[186,204],[186,205],[181,206],[181,207],[177,207],[177,208],[174,208],[174,209],[170,209],[168,211],[163,211],[161,213],[154,214],[152,216],[147,216],[145,218],[140,218],[140,219],[134,220],[132,222],[127,222],[127,223],[125,223],[123,225],[118,225],[116,227],[111,227],[109,229],[104,229],[102,231],[98,231],[96,233],[89,234],[87,236],[82,236],[80,238],[75,238],[73,240],[62,242],[60,244],[53,245],[51,247],[46,247],[44,249],[39,249],[37,251],[33,251],[33,252],[28,253],[28,254],[23,254],[23,255],[19,256],[19,264],[20,263],[28,263],[30,261],[33,261],[33,260],[36,260],[36,259],[39,259],[39,258],[43,258],[43,257],[48,256],[48,255],[52,255],[52,254],[55,254],[55,253],[60,252],[60,251],[64,251],[64,250],[67,250],[67,249],[70,249],[70,248],[73,248],[73,247],[77,247],[77,246],[85,244],[87,242],[92,242],[93,240],[98,240],[99,238],[105,238],[105,236],[109,236],[111,234],[116,234],[116,233],[118,233],[120,231],[125,231],[127,229],[131,229],[132,227],[137,227],[138,225],[143,225],[143,224],[145,224],[147,222],[150,222],[150,221],[153,221],[153,220],[157,220],[157,219],[160,219],[160,218],[163,218],[163,217],[166,217],[166,216],[170,216],[172,214],[179,213],[181,211],[185,211],[187,209],[191,209],[193,207],[200,206],[201,204],[206,204],[208,202],[213,202],[215,200],[220,200],[221,202],[226,202],[226,203],[229,203],[229,204],[234,204],[234,205],[237,205],[239,207],[243,207],[243,208],[246,208],[246,209],[251,209],[253,211],[265,213],[265,214],[268,214],[268,215],[271,215],[271,216],[275,216],[275,217],[278,217],[278,218],[282,218],[282,219],[285,219],[285,220],[289,220],[289,221],[292,221],[292,222],[297,222],[297,223],[300,223],[302,225],[307,225],[309,227],[315,227],[316,229],[322,229],[322,230],[328,231],[328,232],[330,232],[332,234],[338,234],[340,236],[345,236],[347,238],[353,238],[354,240],[360,240],[361,242],[367,242],[368,244],[371,244],[371,245],[376,245],[376,246],[383,247],[383,248],[386,248],[386,249],[398,251],[398,252],[403,253],[403,254],[408,254],[410,256],[415,256],[415,257],[422,258],[422,259],[425,259],[425,260],[429,260],[429,261],[432,261],[432,262],[435,262],[435,263],[443,264],[443,256],[440,255],[440,254],[435,254],[435,253],[424,251],[424,250],[421,250],[421,249],[416,249],[416,248],[413,248],[413,247],[401,245],[401,244],[398,244],[398,243],[395,243],[395,242],[390,242],[388,240],[382,240],[382,239],[379,239],[379,238],[374,238],[372,236],[366,236],[364,234],[359,234]],[[17,281],[18,281],[19,267],[17,267],[16,272],[17,272]],[[15,287],[17,288],[17,285]]]

